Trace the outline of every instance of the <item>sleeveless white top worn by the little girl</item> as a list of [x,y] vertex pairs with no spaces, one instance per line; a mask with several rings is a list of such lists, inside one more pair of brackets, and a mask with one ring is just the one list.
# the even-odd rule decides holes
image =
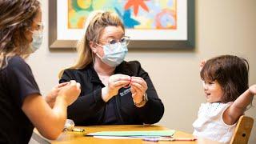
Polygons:
[[223,122],[222,115],[232,103],[202,103],[198,111],[198,119],[193,123],[193,134],[218,142],[230,142],[236,123],[227,125]]

